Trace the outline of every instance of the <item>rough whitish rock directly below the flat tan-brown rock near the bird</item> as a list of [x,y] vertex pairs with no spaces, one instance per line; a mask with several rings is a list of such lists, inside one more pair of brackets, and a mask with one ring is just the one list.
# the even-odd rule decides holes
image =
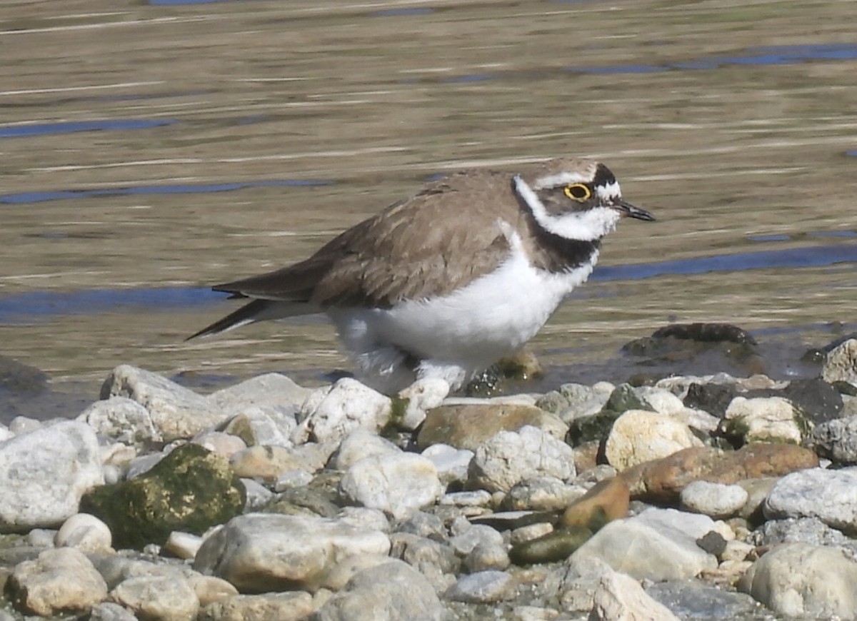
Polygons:
[[476,449],[470,462],[470,481],[489,492],[508,492],[518,481],[555,476],[567,481],[575,475],[572,447],[529,425],[517,432],[502,431]]

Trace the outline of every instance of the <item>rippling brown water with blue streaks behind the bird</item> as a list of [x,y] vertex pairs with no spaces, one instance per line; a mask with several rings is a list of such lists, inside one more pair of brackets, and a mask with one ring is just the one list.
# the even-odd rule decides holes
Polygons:
[[90,398],[124,362],[322,379],[348,363],[318,318],[184,343],[234,308],[205,285],[438,173],[584,155],[658,221],[623,222],[534,339],[544,385],[620,379],[621,344],[671,320],[806,373],[854,322],[853,24],[842,2],[4,3],[0,354]]

